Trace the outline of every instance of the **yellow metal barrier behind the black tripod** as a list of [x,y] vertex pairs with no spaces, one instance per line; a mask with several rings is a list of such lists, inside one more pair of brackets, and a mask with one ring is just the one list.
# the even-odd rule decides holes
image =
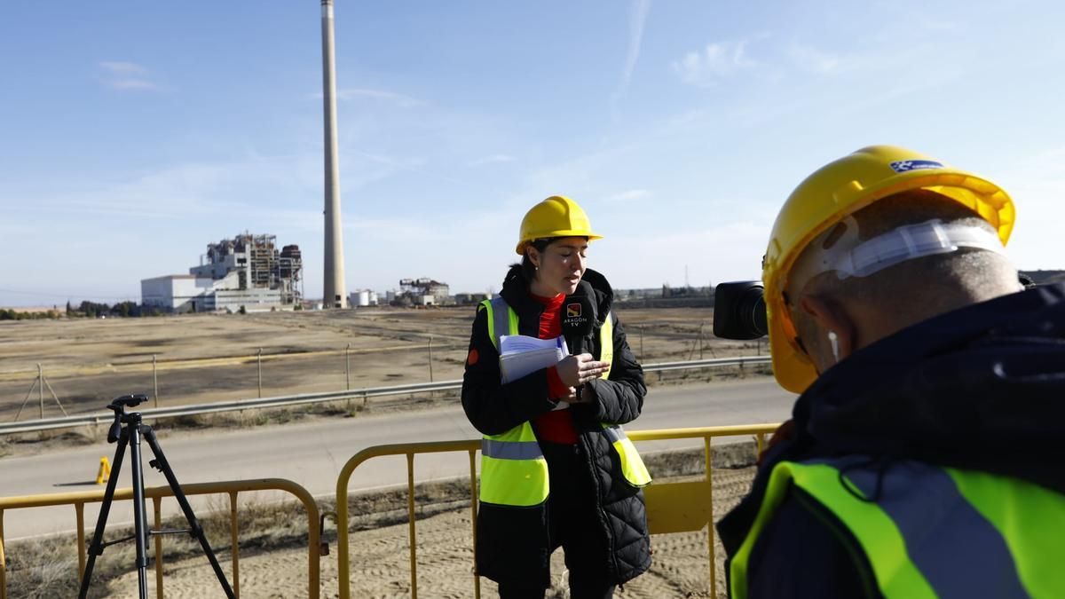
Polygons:
[[[307,531],[308,531],[308,597],[317,599],[321,584],[320,580],[320,550],[321,540],[318,538],[318,505],[314,498],[304,487],[286,481],[284,479],[259,479],[252,481],[223,481],[218,483],[195,483],[182,485],[181,490],[186,496],[194,495],[215,495],[226,493],[229,496],[229,530],[232,543],[233,579],[231,581],[233,592],[241,596],[241,579],[239,570],[240,546],[237,544],[236,524],[236,496],[247,491],[281,490],[288,491],[302,502],[307,508]],[[78,580],[81,580],[85,571],[85,504],[99,503],[103,499],[103,490],[35,495],[24,497],[0,498],[0,599],[7,597],[7,569],[4,557],[3,517],[9,509],[22,509],[29,507],[45,507],[50,505],[73,505],[75,515],[78,521]],[[151,498],[154,512],[154,528],[162,527],[162,501],[165,497],[174,497],[169,486],[148,487],[144,489],[145,498]],[[133,489],[115,489],[115,500],[132,500]],[[155,596],[163,597],[163,537],[154,535],[155,540]]]

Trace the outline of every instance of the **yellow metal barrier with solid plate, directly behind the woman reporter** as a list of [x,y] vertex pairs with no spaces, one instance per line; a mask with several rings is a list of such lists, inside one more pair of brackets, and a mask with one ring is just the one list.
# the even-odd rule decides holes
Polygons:
[[[715,437],[754,435],[760,453],[765,435],[776,430],[779,424],[753,424],[743,426],[706,426],[700,428],[666,428],[659,431],[628,431],[633,441],[660,441],[670,439],[703,439],[706,474],[702,481],[686,483],[654,483],[644,489],[648,505],[648,525],[652,534],[699,531],[709,525],[710,588],[717,587],[717,571],[714,549],[714,485],[711,474],[711,447]],[[350,555],[348,548],[348,499],[347,486],[351,473],[362,463],[373,457],[387,455],[407,456],[407,518],[410,536],[410,593],[417,599],[417,543],[414,519],[414,455],[425,453],[465,452],[470,458],[470,512],[472,514],[472,538],[477,537],[477,462],[480,440],[438,441],[427,443],[398,443],[367,448],[355,454],[344,464],[337,479],[338,520],[338,578],[341,599],[350,599]],[[474,546],[476,551],[476,546]],[[475,557],[476,558],[476,557]],[[480,597],[480,579],[473,574],[474,596]]]

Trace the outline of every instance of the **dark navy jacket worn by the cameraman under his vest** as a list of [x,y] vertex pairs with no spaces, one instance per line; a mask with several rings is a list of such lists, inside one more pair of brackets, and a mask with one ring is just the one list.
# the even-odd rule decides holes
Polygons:
[[[864,347],[799,398],[793,438],[766,456],[751,495],[718,523],[730,561],[784,460],[914,459],[1065,493],[1063,400],[1065,285],[954,310]],[[751,599],[881,597],[847,527],[794,487],[758,536],[748,571]]]

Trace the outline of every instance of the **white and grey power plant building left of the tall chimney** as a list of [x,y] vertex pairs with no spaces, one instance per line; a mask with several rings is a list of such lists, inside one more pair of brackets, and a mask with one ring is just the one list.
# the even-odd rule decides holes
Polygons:
[[209,243],[187,275],[141,281],[141,302],[173,312],[291,309],[302,300],[298,245],[278,250],[277,236],[244,233]]

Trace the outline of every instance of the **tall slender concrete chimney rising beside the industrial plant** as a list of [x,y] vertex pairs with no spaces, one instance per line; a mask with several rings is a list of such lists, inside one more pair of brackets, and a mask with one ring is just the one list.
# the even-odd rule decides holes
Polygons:
[[322,0],[322,96],[325,101],[326,149],[326,271],[322,304],[326,308],[346,308],[344,231],[340,217],[340,172],[337,157],[337,69],[332,3],[333,0]]

